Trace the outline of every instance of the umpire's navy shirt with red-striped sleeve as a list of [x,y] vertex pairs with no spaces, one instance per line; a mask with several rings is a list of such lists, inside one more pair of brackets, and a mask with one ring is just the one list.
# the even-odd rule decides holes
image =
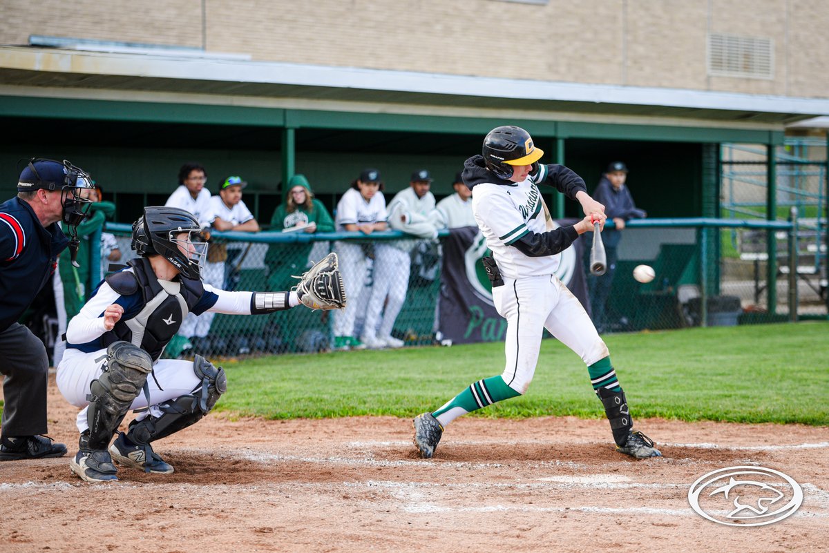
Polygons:
[[44,228],[28,202],[0,204],[0,332],[32,305],[68,245],[58,224]]

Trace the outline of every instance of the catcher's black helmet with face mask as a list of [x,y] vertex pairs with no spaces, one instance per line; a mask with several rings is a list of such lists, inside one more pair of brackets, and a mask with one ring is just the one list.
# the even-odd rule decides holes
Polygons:
[[[179,238],[182,233],[187,233],[187,237]],[[132,248],[140,256],[164,257],[187,278],[201,278],[207,243],[198,220],[185,209],[144,208],[143,217],[133,223]]]

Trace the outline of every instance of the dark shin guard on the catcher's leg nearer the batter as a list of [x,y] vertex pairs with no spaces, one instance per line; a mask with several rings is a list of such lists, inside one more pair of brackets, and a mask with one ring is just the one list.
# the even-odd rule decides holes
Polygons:
[[[225,371],[221,367],[214,367],[213,363],[201,355],[196,355],[193,372],[201,377],[201,386],[191,394],[160,404],[158,408],[162,411],[161,416],[151,415],[142,421],[133,421],[127,433],[128,440],[134,444],[148,445],[196,424],[211,411],[221,394],[227,391]],[[151,454],[152,450],[148,449],[147,459]]]

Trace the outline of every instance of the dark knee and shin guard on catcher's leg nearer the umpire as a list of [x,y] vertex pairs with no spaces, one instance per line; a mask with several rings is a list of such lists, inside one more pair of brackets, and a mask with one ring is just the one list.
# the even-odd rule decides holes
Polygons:
[[115,342],[107,349],[104,372],[90,382],[86,414],[90,448],[105,449],[129,406],[138,397],[153,370],[150,354],[129,342]]

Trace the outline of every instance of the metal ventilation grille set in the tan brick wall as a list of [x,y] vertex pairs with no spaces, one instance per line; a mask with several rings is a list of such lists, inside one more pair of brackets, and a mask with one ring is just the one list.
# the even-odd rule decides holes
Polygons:
[[772,79],[774,41],[712,33],[708,36],[708,75]]

